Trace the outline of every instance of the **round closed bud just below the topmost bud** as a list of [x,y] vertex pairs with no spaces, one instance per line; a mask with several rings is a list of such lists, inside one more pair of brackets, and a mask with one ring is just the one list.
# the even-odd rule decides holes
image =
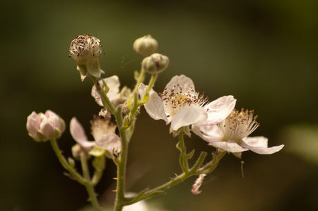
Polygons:
[[150,57],[142,60],[142,68],[151,74],[158,74],[165,70],[169,65],[169,58],[162,54],[151,54]]

